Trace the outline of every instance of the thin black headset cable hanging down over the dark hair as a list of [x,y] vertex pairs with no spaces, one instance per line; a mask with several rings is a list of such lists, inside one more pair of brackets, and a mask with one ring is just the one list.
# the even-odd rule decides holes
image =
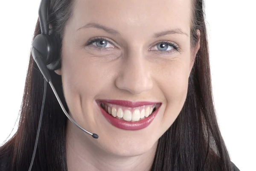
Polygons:
[[39,137],[41,123],[42,123],[42,118],[43,118],[44,103],[45,103],[45,98],[46,98],[46,90],[47,90],[47,81],[46,81],[46,79],[44,79],[43,103],[42,103],[41,114],[40,114],[40,119],[39,119],[38,131],[37,131],[37,135],[36,135],[36,139],[35,139],[34,152],[33,152],[33,156],[32,156],[32,160],[31,160],[30,166],[29,166],[29,171],[31,171],[31,169],[32,169],[32,165],[33,165],[33,162],[34,162],[34,159],[35,159],[35,152],[36,152],[37,145],[38,145],[38,137]]

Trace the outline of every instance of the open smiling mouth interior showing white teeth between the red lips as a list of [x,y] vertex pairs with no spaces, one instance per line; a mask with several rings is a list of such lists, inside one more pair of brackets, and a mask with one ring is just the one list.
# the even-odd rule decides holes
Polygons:
[[105,110],[106,113],[115,117],[116,119],[121,119],[128,122],[137,122],[151,116],[151,114],[154,113],[158,107],[161,106],[161,104],[156,103],[139,107],[125,107],[111,104],[106,101],[99,101],[99,106]]

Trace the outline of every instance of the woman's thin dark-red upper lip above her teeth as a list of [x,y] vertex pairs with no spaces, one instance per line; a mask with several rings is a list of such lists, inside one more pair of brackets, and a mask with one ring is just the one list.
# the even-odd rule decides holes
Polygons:
[[151,102],[151,101],[126,101],[126,100],[97,100],[97,102],[107,102],[110,104],[116,104],[119,106],[124,106],[124,107],[140,107],[143,105],[149,105],[149,104],[157,104],[160,102]]

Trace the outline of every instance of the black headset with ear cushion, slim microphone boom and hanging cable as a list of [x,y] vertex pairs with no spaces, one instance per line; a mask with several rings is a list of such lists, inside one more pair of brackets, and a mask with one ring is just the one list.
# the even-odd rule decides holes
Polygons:
[[41,114],[39,119],[38,131],[35,140],[35,148],[32,156],[32,160],[29,166],[29,171],[32,169],[32,165],[35,159],[35,152],[37,149],[38,144],[38,137],[41,128],[43,110],[44,110],[44,103],[45,103],[45,96],[46,96],[46,87],[47,82],[50,84],[59,104],[61,105],[61,109],[65,113],[68,119],[70,119],[73,124],[75,124],[78,128],[80,128],[85,133],[90,134],[93,138],[98,139],[99,136],[96,133],[90,133],[89,131],[81,128],[67,113],[65,110],[61,99],[59,98],[53,84],[52,78],[49,74],[49,70],[58,70],[61,68],[61,39],[58,34],[54,32],[53,29],[49,29],[49,21],[48,21],[48,12],[49,12],[49,5],[50,0],[41,0],[39,10],[38,10],[38,17],[41,27],[41,34],[37,35],[31,46],[31,52],[35,63],[38,65],[39,70],[44,76],[44,96],[43,96],[43,103],[41,107]]

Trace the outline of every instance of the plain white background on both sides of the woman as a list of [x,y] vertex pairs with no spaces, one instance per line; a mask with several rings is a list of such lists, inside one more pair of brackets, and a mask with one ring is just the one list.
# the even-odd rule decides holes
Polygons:
[[[40,0],[0,6],[0,144],[14,128],[23,96]],[[256,3],[206,0],[212,86],[218,123],[231,160],[256,171]],[[14,128],[13,133],[16,131]]]

